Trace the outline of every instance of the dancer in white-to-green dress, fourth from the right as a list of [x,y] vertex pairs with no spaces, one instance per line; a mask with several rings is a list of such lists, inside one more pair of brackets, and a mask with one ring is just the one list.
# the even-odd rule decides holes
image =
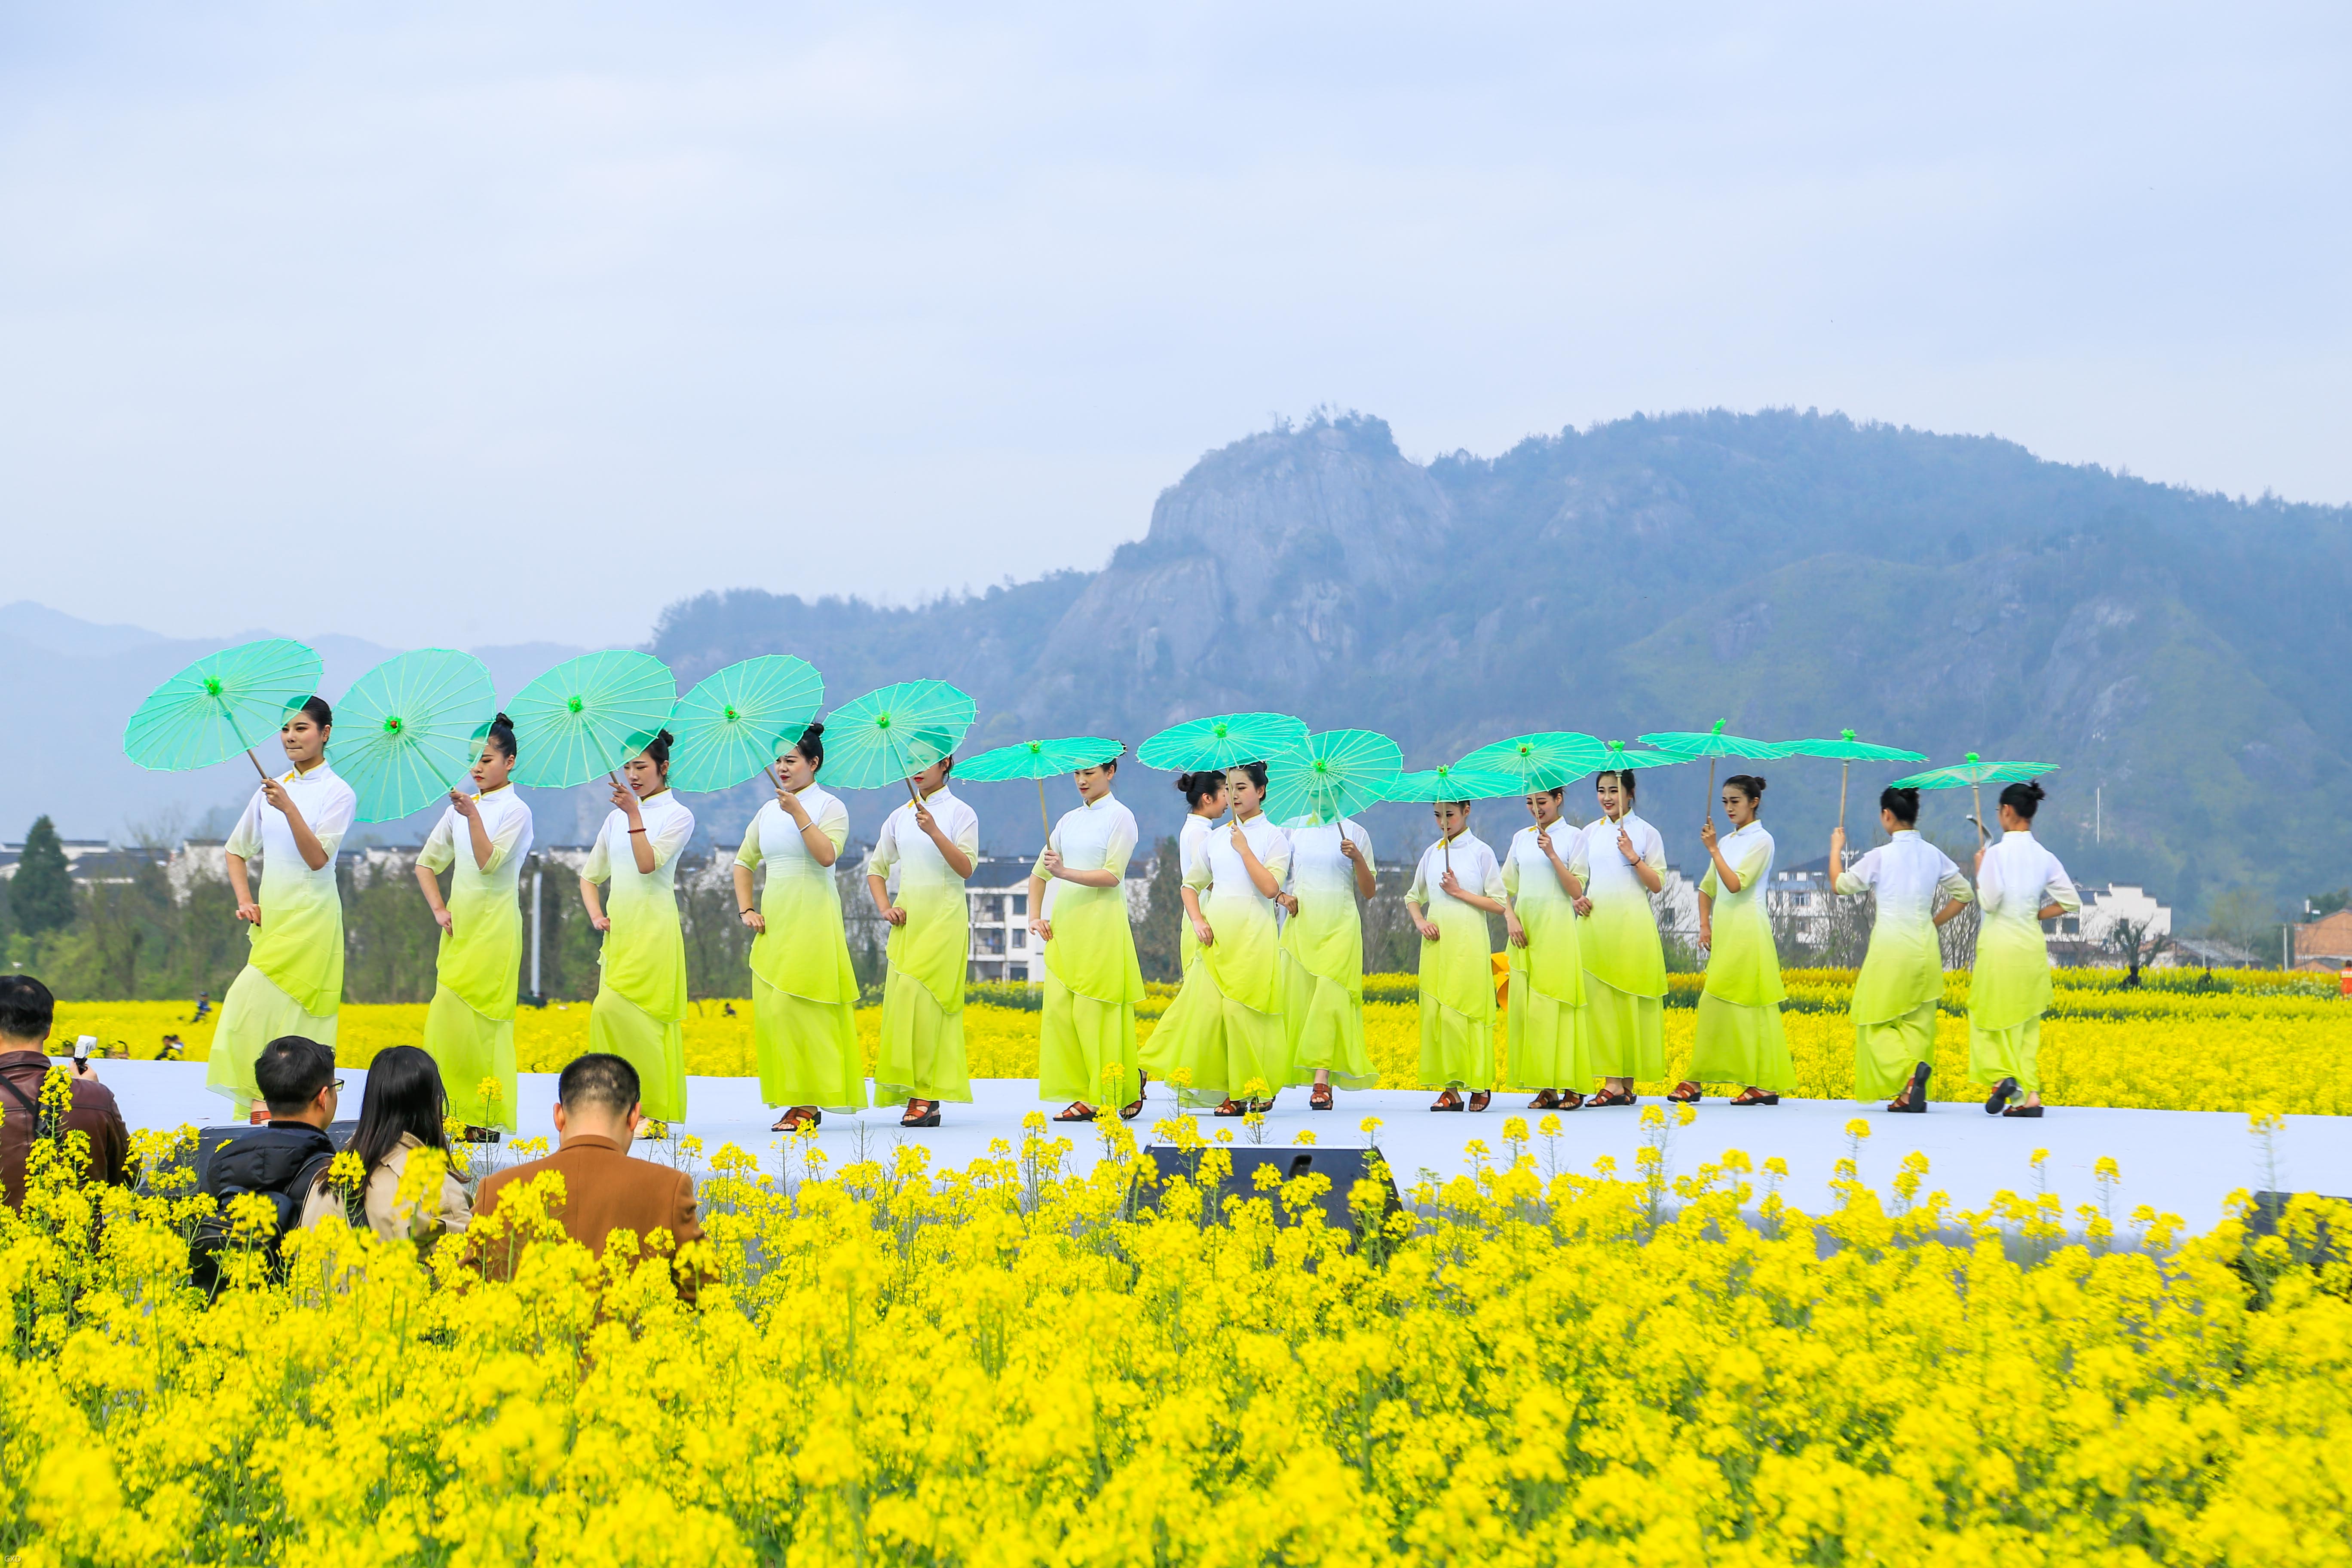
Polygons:
[[1585,884],[1576,914],[1592,1009],[1592,1072],[1599,1093],[1585,1110],[1632,1105],[1635,1079],[1665,1077],[1665,943],[1649,900],[1665,886],[1665,839],[1635,809],[1635,771],[1592,780],[1602,816],[1576,835],[1569,870]]

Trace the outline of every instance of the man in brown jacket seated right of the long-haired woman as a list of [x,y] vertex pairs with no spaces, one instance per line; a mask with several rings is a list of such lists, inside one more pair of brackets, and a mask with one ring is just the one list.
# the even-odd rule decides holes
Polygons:
[[[635,1232],[640,1248],[652,1244],[656,1229],[670,1232],[677,1246],[703,1239],[694,1218],[694,1178],[630,1157],[640,1121],[637,1070],[626,1058],[590,1053],[564,1067],[555,1084],[555,1152],[487,1178],[473,1204],[473,1237],[489,1248],[496,1274],[506,1274],[513,1260],[510,1244],[501,1239],[503,1225],[492,1218],[499,1199],[548,1171],[564,1178],[557,1211],[564,1234],[600,1258],[616,1229]],[[677,1293],[694,1300],[694,1272],[677,1269],[675,1279]]]

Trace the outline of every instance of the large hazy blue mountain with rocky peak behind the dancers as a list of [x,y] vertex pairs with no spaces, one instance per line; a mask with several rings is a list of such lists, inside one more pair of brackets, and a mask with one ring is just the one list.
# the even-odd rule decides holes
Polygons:
[[[682,684],[802,654],[833,701],[948,677],[978,698],[974,748],[1282,708],[1385,729],[1411,766],[1529,729],[1715,719],[1766,738],[1853,726],[1936,762],[2025,755],[2063,764],[2044,837],[2082,877],[2194,910],[2352,872],[2333,809],[2347,590],[2352,508],[2241,503],[1990,437],[1712,411],[1414,463],[1383,421],[1345,416],[1202,456],[1103,571],[920,609],[713,592],[663,611],[654,651]],[[1818,856],[1835,764],[1764,771],[1783,858]],[[1860,830],[1891,776],[1858,771]],[[1644,788],[1693,870],[1703,788],[1703,769]],[[995,844],[1035,844],[1033,795],[971,795],[1002,799],[983,806]],[[1178,816],[1160,776],[1122,795],[1152,830]],[[724,832],[750,802],[701,811]],[[1964,813],[1936,802],[1931,823],[1962,837]],[[1496,842],[1517,820],[1475,818]],[[1399,806],[1378,832],[1383,858],[1425,837]]]

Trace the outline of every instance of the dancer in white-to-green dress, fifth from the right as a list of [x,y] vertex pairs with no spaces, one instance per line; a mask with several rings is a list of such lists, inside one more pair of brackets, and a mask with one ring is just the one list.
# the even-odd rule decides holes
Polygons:
[[1592,1093],[1592,1016],[1576,943],[1576,900],[1585,884],[1569,870],[1576,830],[1559,825],[1566,790],[1526,797],[1531,827],[1510,835],[1503,856],[1503,929],[1510,952],[1510,1006],[1503,1009],[1505,1079],[1534,1088],[1526,1110],[1578,1110]]

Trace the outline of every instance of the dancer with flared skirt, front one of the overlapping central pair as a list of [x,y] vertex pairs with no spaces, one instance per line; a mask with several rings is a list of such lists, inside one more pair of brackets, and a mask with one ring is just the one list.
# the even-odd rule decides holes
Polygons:
[[[1265,820],[1263,762],[1228,769],[1225,797],[1232,827],[1202,839],[1185,865],[1202,954],[1145,1041],[1143,1065],[1178,1084],[1181,1105],[1216,1105],[1218,1117],[1240,1117],[1251,1105],[1270,1110],[1289,1081],[1275,893],[1291,863],[1291,839]],[[1265,1098],[1247,1100],[1251,1086]]]

